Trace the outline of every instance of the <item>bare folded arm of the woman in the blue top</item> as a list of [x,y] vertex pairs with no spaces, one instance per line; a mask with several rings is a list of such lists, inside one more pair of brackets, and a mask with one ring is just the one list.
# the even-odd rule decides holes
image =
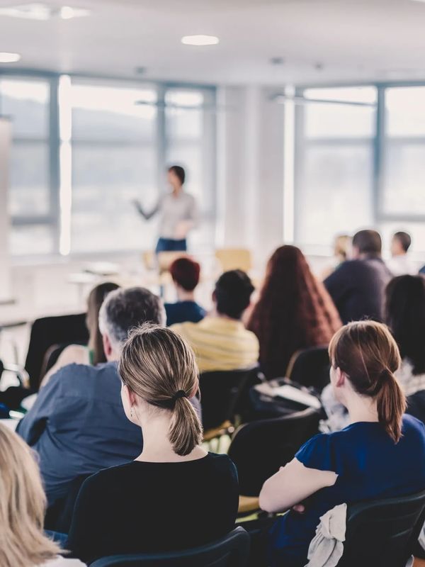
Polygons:
[[263,484],[260,507],[266,512],[285,512],[316,493],[333,486],[338,475],[332,471],[308,468],[293,459]]

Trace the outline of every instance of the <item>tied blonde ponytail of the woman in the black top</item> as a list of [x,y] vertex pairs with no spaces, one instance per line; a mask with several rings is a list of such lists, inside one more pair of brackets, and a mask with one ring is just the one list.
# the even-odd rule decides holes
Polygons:
[[174,452],[181,456],[188,455],[202,442],[202,425],[188,398],[176,400],[169,439]]

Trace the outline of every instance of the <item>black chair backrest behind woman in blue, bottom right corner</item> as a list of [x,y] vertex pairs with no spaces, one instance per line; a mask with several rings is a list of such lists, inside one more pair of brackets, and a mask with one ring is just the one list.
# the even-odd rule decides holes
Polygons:
[[339,567],[404,567],[425,521],[425,491],[348,507]]

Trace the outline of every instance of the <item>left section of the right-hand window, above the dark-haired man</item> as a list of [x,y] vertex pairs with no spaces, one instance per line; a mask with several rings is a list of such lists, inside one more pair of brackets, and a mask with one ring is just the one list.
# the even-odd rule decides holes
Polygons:
[[303,96],[296,114],[295,240],[320,252],[336,233],[373,221],[376,89],[306,89]]

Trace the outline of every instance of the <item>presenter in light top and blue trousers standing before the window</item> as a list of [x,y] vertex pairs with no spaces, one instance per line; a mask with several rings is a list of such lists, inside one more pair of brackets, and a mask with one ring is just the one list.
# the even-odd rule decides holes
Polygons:
[[134,201],[145,220],[159,214],[159,239],[155,252],[186,251],[186,237],[198,224],[196,200],[183,190],[186,174],[183,167],[172,165],[167,172],[171,192],[159,198],[158,203],[147,213],[140,201]]

